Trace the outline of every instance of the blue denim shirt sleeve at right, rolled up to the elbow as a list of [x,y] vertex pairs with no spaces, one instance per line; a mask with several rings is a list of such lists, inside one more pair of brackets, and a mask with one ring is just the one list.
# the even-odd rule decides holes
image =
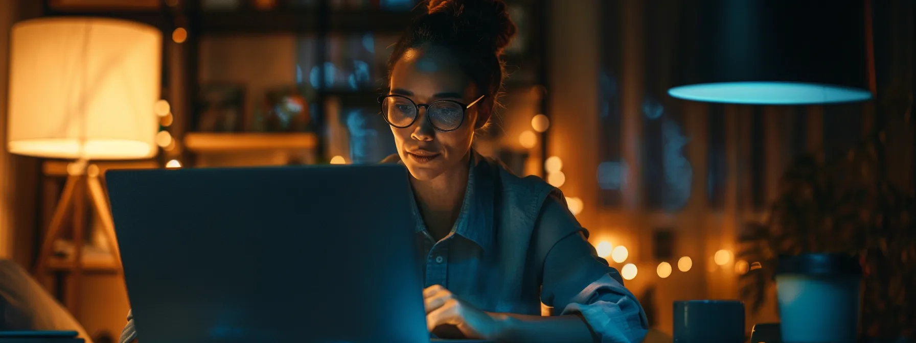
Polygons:
[[587,231],[562,200],[548,198],[539,226],[570,232],[552,244],[544,259],[541,301],[553,307],[555,315],[583,316],[603,343],[641,342],[649,331],[642,306],[624,287],[620,273],[597,256],[586,240]]

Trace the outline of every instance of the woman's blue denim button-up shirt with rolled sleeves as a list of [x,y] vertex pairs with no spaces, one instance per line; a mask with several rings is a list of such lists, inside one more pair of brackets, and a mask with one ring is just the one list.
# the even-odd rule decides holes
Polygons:
[[[538,316],[547,305],[552,316],[581,314],[601,342],[641,342],[649,330],[642,306],[597,256],[560,190],[471,154],[462,209],[442,241],[414,203],[425,286],[440,284],[488,312]],[[122,343],[137,337],[127,319]]]

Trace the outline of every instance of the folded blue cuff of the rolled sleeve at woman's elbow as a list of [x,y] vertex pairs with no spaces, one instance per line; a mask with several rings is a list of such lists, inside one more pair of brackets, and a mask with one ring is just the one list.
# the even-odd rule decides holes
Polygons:
[[602,343],[642,342],[649,319],[636,296],[605,274],[576,295],[562,315],[579,313]]

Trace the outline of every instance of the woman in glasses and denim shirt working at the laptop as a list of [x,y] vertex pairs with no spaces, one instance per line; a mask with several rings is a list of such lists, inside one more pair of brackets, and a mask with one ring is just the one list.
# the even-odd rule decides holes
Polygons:
[[[647,319],[597,257],[557,188],[477,155],[515,34],[501,0],[431,0],[388,60],[381,97],[407,166],[426,256],[427,326],[440,338],[640,342]],[[540,316],[540,304],[559,316]],[[136,338],[128,323],[122,342]]]

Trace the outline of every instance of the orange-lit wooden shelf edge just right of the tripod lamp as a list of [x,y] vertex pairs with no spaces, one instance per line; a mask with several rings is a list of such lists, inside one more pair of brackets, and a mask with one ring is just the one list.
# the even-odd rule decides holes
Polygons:
[[318,137],[311,133],[189,133],[185,147],[194,153],[227,153],[252,150],[313,149]]

